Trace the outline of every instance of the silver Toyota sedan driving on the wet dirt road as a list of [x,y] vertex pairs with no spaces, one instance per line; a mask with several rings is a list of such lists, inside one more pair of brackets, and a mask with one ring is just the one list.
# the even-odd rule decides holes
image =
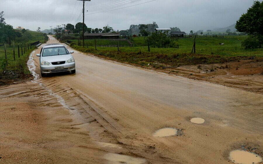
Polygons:
[[56,72],[70,72],[74,74],[75,60],[71,55],[74,51],[68,51],[63,45],[49,44],[42,47],[39,57],[41,76]]

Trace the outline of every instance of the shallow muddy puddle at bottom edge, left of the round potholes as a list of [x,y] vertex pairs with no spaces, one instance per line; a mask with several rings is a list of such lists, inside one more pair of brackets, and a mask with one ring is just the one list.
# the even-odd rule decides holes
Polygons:
[[108,160],[108,164],[143,164],[146,162],[144,158],[136,158],[116,153],[107,153],[104,158]]

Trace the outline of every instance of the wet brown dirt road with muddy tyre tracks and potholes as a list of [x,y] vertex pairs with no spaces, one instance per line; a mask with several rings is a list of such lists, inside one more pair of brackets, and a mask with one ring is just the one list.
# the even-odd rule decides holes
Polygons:
[[[241,146],[262,156],[263,95],[73,56],[76,74],[0,88],[1,161],[225,164]],[[177,134],[154,134],[166,127]]]

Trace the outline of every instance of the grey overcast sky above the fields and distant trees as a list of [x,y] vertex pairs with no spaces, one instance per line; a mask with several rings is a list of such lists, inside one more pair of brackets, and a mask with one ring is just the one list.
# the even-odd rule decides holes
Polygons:
[[[232,25],[253,4],[253,0],[155,0],[141,4],[147,1],[150,0],[87,1],[85,24],[90,28],[109,24],[115,30],[126,30],[131,24],[155,21],[159,28],[179,27],[189,33]],[[122,8],[126,6],[131,7]],[[107,11],[117,8],[122,9]],[[14,28],[44,30],[82,22],[82,1],[77,0],[0,0],[0,11],[4,11],[6,23]],[[100,11],[107,12],[96,13]]]

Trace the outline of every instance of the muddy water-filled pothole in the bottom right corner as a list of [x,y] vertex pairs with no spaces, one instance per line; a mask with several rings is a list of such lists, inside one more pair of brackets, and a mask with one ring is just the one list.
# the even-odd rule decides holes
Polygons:
[[229,159],[233,163],[238,164],[257,164],[262,162],[262,158],[259,155],[243,150],[231,151],[229,153]]

